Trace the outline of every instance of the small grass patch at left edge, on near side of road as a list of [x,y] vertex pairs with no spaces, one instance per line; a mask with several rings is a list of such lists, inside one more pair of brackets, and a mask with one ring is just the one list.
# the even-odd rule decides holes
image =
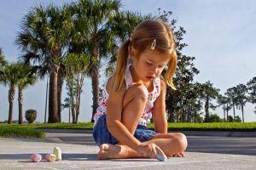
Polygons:
[[33,128],[15,127],[0,124],[0,136],[3,137],[22,137],[22,138],[44,138],[45,134]]

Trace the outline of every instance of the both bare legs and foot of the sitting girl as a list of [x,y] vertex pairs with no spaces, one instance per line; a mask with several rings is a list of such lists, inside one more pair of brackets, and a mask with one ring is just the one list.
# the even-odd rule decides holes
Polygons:
[[[135,133],[139,118],[147,103],[148,90],[143,85],[133,85],[127,89],[123,100],[122,122],[132,133]],[[172,156],[186,149],[187,139],[182,133],[157,134],[145,144],[157,144],[166,156]],[[141,157],[136,150],[124,144],[102,144],[98,153],[100,159]]]

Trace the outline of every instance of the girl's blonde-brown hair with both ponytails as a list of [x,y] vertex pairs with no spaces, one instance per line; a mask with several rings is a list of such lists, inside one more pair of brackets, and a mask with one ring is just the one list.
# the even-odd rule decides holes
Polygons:
[[132,32],[130,39],[123,42],[119,48],[117,66],[113,75],[113,90],[118,91],[125,82],[125,69],[128,62],[129,47],[137,51],[137,56],[143,53],[146,48],[150,48],[155,39],[154,50],[162,54],[170,55],[167,63],[166,83],[171,88],[176,89],[172,77],[177,67],[177,54],[175,41],[170,26],[163,20],[145,20],[140,23]]

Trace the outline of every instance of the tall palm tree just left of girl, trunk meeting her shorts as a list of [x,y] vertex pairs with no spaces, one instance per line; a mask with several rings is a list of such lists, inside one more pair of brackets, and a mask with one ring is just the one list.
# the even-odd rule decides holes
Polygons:
[[79,26],[85,26],[86,29],[79,31],[79,34],[80,37],[86,37],[82,42],[86,44],[82,51],[90,58],[88,76],[91,77],[93,94],[92,117],[98,106],[101,59],[108,57],[108,48],[112,48],[114,42],[109,21],[110,17],[118,13],[119,8],[119,0],[79,0],[78,3],[73,3],[73,10],[78,16],[76,21],[79,22]]

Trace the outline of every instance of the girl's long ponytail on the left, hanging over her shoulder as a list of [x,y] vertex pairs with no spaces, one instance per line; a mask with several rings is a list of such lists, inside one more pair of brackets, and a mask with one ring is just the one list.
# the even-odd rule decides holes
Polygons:
[[130,39],[126,40],[123,42],[121,48],[119,49],[119,54],[117,57],[117,64],[116,64],[116,69],[115,73],[113,75],[113,91],[119,91],[119,89],[122,87],[122,85],[125,82],[125,70],[126,70],[126,65],[127,65],[127,60],[128,60],[128,55],[129,55],[129,44],[130,44]]

